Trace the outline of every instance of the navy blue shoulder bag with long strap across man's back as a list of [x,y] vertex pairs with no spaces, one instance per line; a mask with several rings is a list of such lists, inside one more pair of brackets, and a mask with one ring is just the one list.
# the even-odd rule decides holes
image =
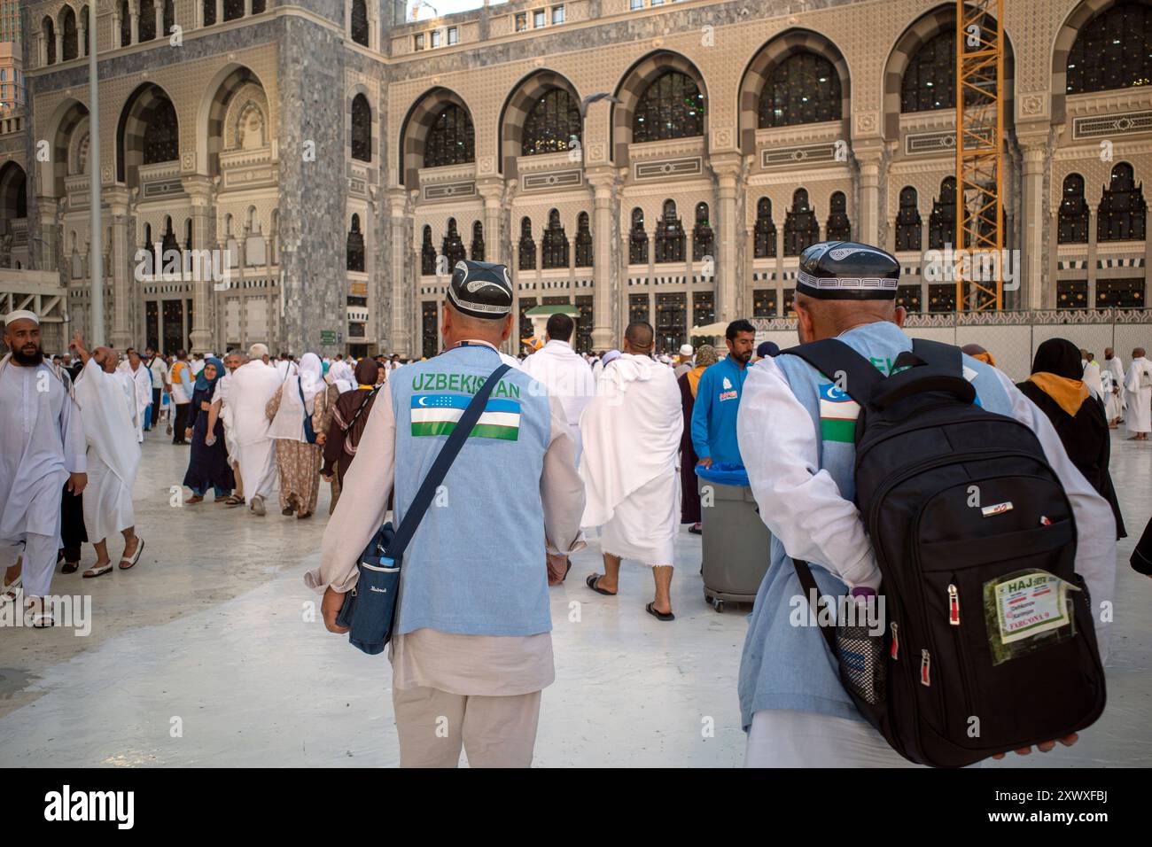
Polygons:
[[400,529],[393,530],[391,521],[385,523],[361,553],[357,565],[359,578],[356,587],[346,596],[344,605],[336,615],[339,626],[350,628],[348,642],[357,650],[374,656],[384,652],[384,648],[392,640],[396,620],[396,599],[400,595],[400,564],[404,549],[416,535],[424,513],[432,505],[435,490],[448,475],[448,469],[468,440],[476,422],[479,421],[492,390],[508,369],[507,364],[497,368],[468,403],[456,428],[440,448],[432,469],[420,483],[420,489],[408,507]]

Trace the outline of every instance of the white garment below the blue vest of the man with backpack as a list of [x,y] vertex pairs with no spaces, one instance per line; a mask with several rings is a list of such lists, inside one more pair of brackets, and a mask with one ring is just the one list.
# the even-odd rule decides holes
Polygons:
[[748,729],[745,767],[919,767],[863,720],[765,709]]

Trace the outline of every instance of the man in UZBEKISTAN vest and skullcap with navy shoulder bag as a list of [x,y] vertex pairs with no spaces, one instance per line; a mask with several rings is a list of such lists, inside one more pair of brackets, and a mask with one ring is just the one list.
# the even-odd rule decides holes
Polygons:
[[[305,576],[324,591],[331,632],[347,632],[336,614],[389,494],[399,527],[467,401],[501,365],[511,305],[503,265],[458,262],[444,351],[380,387],[320,567]],[[505,373],[404,552],[389,656],[402,766],[454,767],[461,747],[473,767],[531,764],[540,693],[555,679],[540,549],[586,546],[575,456],[559,400],[518,369]]]

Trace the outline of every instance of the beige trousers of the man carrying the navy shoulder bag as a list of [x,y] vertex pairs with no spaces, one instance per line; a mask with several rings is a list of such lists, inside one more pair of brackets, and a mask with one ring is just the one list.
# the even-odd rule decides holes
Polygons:
[[470,767],[530,767],[540,691],[513,697],[393,688],[401,767],[455,767],[463,747]]

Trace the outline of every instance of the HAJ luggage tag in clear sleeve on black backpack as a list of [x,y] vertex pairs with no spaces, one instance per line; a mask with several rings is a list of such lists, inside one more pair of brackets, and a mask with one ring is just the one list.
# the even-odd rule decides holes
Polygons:
[[1038,568],[984,583],[992,664],[1043,650],[1076,635],[1070,591],[1081,589]]

